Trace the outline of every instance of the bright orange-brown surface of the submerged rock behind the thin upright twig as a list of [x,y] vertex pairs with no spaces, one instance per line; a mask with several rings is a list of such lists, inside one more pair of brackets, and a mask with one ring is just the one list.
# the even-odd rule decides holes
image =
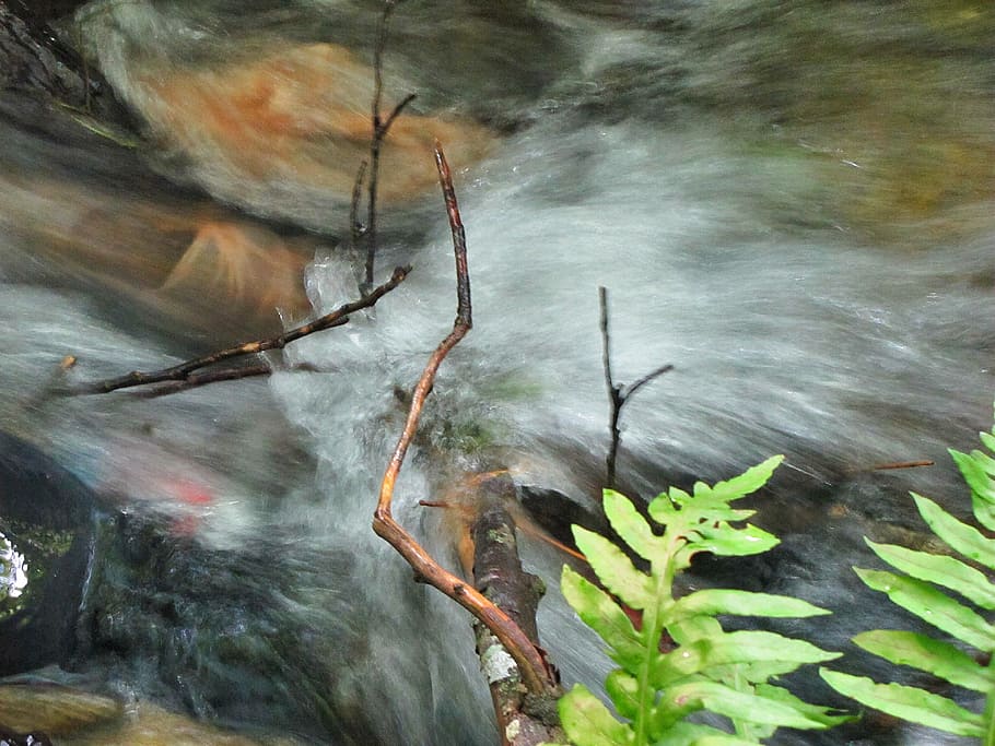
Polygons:
[[[156,133],[201,168],[213,164],[262,185],[289,179],[348,199],[368,157],[373,78],[349,50],[312,44],[220,67],[151,70],[134,83],[140,110]],[[383,106],[386,117],[390,99]],[[435,138],[460,164],[479,159],[490,144],[487,131],[469,121],[398,118],[383,151],[385,200],[434,188]]]

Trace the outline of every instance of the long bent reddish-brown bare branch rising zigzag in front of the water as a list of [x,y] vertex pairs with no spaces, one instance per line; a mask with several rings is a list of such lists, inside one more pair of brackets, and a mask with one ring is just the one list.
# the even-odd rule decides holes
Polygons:
[[456,577],[436,563],[431,555],[394,519],[391,501],[397,476],[400,473],[408,447],[414,438],[425,399],[432,390],[438,367],[449,351],[466,336],[472,327],[470,307],[470,277],[467,267],[466,239],[459,208],[456,203],[453,179],[442,146],[435,144],[435,163],[442,183],[453,233],[453,248],[456,258],[457,311],[453,331],[440,343],[429,358],[414,393],[403,431],[397,441],[394,454],[381,483],[379,498],[373,516],[373,530],[388,542],[411,566],[420,580],[435,587],[456,601],[479,619],[501,643],[518,665],[522,680],[536,696],[555,690],[555,673],[547,663],[541,651],[515,621],[480,591]]

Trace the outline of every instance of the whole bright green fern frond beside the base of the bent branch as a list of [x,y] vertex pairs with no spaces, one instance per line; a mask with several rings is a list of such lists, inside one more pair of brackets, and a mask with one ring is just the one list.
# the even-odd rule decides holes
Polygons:
[[[574,526],[577,547],[600,587],[564,567],[563,595],[608,643],[619,668],[605,685],[614,712],[582,686],[561,699],[560,714],[572,743],[742,746],[760,743],[781,726],[826,729],[847,719],[770,683],[801,665],[835,659],[838,653],[774,632],[726,632],[715,618],[828,612],[797,599],[736,590],[674,596],[675,577],[695,554],[746,556],[777,544],[772,534],[744,524],[752,510],[730,504],[763,486],[782,458],[714,486],[699,482],[693,494],[675,487],[659,495],[647,508],[651,519],[660,524],[656,530],[625,496],[605,490],[609,523],[649,564],[648,571],[639,569],[609,540]],[[639,628],[620,604],[642,612]],[[664,631],[678,643],[670,652],[659,649]],[[702,710],[724,715],[730,732],[688,721]]]

